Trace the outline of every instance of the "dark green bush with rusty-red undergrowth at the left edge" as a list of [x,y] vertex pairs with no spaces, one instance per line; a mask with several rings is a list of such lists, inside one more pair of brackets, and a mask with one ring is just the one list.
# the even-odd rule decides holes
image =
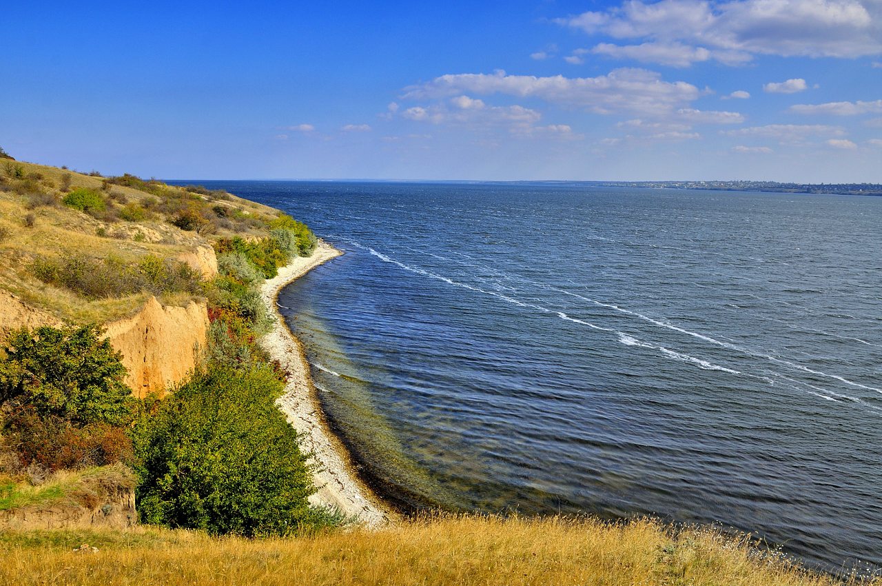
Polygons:
[[48,470],[130,462],[137,401],[94,325],[20,329],[0,357],[4,447]]

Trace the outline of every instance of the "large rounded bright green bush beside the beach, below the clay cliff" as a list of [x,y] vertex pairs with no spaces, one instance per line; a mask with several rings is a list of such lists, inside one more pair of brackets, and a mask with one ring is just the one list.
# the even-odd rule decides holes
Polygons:
[[133,431],[142,522],[211,534],[289,535],[324,519],[268,366],[197,372]]

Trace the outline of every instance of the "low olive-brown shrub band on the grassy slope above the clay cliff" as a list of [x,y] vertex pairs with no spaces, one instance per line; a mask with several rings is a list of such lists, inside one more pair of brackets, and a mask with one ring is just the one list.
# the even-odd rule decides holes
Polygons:
[[202,289],[202,277],[197,270],[186,263],[152,255],[142,257],[137,264],[127,264],[114,257],[36,259],[31,271],[42,282],[93,299],[123,297],[142,291],[156,296],[198,293]]

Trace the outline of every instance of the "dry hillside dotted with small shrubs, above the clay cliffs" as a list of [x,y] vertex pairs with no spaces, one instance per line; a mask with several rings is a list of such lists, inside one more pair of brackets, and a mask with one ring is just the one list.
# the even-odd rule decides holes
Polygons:
[[[65,205],[71,194],[93,197],[94,205]],[[78,294],[57,282],[41,281],[34,263],[97,259],[132,266],[153,257],[183,260],[210,277],[216,273],[214,241],[265,237],[278,214],[226,192],[7,160],[0,162],[0,290],[59,320],[107,323],[131,317],[150,293],[123,287],[113,295]],[[183,286],[157,292],[162,304],[179,306],[200,297]]]

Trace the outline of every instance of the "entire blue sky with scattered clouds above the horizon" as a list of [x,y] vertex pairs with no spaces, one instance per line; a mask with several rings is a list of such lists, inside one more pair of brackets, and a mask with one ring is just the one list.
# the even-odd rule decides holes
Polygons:
[[882,0],[35,0],[0,55],[0,146],[83,171],[882,183]]

